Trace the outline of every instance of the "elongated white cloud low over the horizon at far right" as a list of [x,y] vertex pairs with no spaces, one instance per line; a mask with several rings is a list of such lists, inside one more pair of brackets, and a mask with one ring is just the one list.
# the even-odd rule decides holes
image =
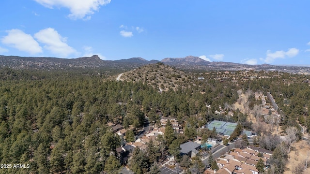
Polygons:
[[283,50],[276,51],[276,52],[271,52],[270,50],[268,50],[266,52],[266,58],[264,59],[260,58],[260,59],[265,61],[266,63],[272,63],[277,58],[287,58],[287,57],[293,58],[297,56],[298,53],[299,53],[299,50],[297,48],[290,48],[286,52]]

